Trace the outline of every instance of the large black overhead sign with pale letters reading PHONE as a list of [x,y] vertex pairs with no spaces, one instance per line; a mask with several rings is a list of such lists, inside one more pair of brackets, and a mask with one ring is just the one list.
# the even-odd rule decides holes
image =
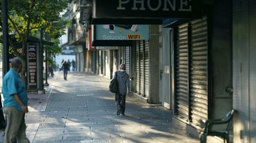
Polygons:
[[202,0],[93,0],[93,18],[202,18]]

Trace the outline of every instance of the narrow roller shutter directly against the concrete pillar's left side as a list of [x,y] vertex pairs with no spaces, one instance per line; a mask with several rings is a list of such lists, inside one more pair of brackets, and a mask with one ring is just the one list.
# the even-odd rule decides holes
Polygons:
[[145,51],[144,51],[144,68],[145,68],[145,97],[148,97],[149,93],[148,93],[148,88],[149,88],[149,75],[148,75],[148,49],[149,49],[149,45],[148,45],[148,40],[145,40]]

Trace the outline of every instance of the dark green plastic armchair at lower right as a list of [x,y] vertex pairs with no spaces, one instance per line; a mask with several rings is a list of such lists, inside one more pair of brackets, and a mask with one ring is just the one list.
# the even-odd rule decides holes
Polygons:
[[[229,143],[229,130],[232,123],[232,118],[235,110],[231,110],[227,115],[222,119],[209,119],[205,122],[205,129],[200,134],[201,143],[206,143],[207,136],[218,136],[224,138],[225,141]],[[224,131],[215,131],[212,130],[213,125],[227,124],[227,128]]]

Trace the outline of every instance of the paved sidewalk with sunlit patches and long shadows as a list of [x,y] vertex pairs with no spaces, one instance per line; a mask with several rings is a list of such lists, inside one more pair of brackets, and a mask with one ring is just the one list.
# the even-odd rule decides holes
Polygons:
[[[31,143],[200,142],[172,123],[171,110],[133,96],[126,98],[126,116],[117,116],[114,93],[108,91],[110,81],[81,72],[68,73],[67,80],[62,72],[48,78],[45,95],[29,94],[25,122]],[[208,141],[216,142],[221,141]]]

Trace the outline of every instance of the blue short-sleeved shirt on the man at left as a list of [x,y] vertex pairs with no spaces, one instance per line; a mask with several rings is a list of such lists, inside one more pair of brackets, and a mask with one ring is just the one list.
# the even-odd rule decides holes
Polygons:
[[13,69],[10,69],[4,76],[2,93],[4,95],[4,106],[14,106],[16,109],[22,111],[19,103],[14,99],[13,95],[18,94],[23,104],[28,106],[28,94],[25,89],[25,84],[19,76],[19,73]]

